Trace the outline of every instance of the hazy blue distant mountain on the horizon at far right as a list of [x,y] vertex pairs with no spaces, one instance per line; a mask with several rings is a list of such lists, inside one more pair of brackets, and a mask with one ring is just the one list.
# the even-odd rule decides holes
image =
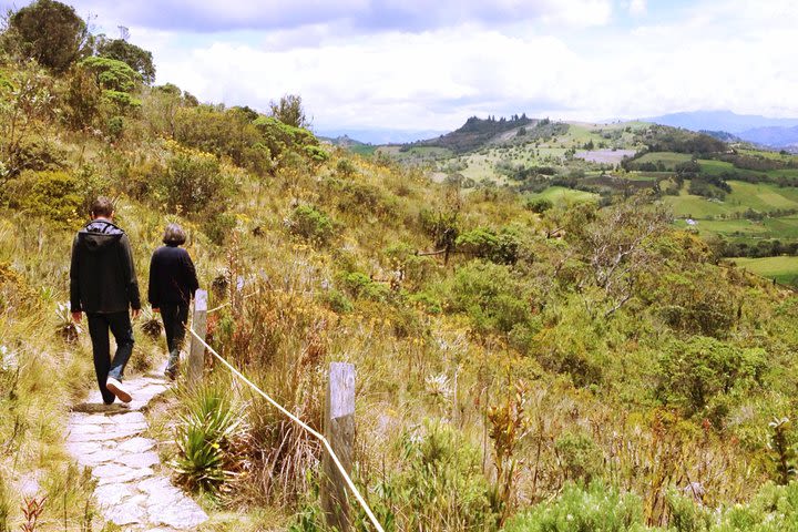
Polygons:
[[643,120],[685,130],[713,132],[709,134],[717,139],[722,132],[733,133],[743,141],[776,149],[798,144],[798,119],[773,119],[732,111],[693,111]]

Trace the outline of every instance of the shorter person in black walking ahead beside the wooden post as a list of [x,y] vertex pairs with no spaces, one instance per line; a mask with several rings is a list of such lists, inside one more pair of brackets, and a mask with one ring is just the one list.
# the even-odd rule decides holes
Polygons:
[[180,225],[167,225],[163,237],[165,245],[153,253],[150,263],[149,299],[153,310],[160,311],[163,318],[170,352],[164,375],[173,380],[185,339],[188,305],[200,288],[194,263],[188,252],[180,247],[185,239],[186,234]]

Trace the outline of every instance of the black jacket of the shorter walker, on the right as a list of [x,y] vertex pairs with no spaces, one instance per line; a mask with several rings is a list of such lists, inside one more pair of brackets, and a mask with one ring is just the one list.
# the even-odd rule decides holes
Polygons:
[[150,305],[188,304],[200,288],[188,252],[175,245],[155,249],[150,262]]

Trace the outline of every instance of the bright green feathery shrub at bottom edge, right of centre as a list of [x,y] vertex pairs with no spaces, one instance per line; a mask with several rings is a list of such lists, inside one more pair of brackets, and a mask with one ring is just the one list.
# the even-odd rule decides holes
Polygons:
[[553,503],[540,503],[510,519],[504,532],[643,532],[643,503],[632,493],[593,482],[566,484]]

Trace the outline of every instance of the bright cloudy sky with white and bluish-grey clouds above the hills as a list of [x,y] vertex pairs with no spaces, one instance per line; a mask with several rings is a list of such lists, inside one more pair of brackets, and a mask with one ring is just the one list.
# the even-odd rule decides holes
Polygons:
[[153,52],[157,83],[260,110],[300,94],[316,130],[450,130],[470,115],[521,112],[798,116],[795,0],[71,4],[95,33],[129,28]]

